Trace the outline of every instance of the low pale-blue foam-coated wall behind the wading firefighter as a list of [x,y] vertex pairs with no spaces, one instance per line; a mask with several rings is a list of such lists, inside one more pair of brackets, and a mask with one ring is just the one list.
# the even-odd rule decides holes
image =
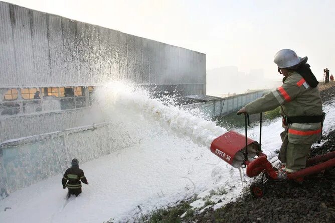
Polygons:
[[[0,189],[13,192],[63,174],[75,157],[80,163],[121,149],[110,124],[101,123],[0,144]],[[61,179],[59,179],[60,182]]]

